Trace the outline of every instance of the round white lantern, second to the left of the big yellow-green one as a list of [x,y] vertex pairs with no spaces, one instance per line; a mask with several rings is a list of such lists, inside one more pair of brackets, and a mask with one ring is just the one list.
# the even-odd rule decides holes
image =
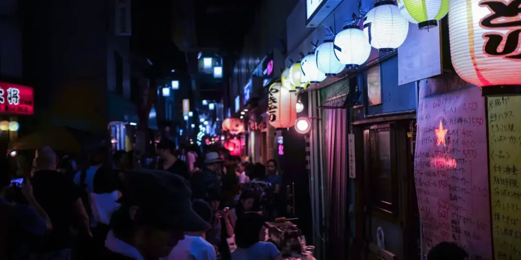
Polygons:
[[348,69],[358,69],[371,54],[371,45],[357,25],[346,25],[334,37],[334,54]]

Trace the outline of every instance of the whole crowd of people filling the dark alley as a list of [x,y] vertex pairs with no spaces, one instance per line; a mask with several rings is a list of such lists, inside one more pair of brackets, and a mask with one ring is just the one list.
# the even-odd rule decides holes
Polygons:
[[75,160],[44,147],[32,164],[0,160],[0,259],[282,259],[265,228],[280,216],[275,160],[166,138],[156,154],[143,165],[132,151]]

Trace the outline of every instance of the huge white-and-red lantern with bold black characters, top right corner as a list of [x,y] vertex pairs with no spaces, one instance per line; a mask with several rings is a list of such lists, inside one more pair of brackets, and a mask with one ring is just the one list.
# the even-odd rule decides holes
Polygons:
[[519,1],[450,1],[452,64],[463,80],[480,87],[521,84],[518,5]]

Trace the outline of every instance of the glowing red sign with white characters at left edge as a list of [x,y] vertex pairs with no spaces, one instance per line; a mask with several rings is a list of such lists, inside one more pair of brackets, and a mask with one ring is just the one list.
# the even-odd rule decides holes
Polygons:
[[34,114],[34,90],[32,87],[0,82],[0,113]]

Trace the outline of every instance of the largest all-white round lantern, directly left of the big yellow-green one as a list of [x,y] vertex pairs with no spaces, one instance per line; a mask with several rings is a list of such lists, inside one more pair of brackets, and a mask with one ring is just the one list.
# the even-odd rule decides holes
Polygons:
[[400,14],[394,1],[375,4],[364,18],[364,36],[380,53],[392,52],[405,42],[409,22]]

